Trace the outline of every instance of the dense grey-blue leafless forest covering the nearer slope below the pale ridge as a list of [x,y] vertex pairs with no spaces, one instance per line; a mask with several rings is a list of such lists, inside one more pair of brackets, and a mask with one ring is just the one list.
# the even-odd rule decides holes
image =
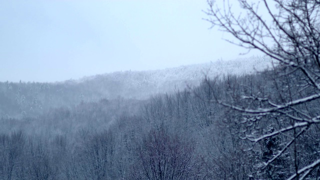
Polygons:
[[[32,101],[34,111],[30,115],[4,115],[0,119],[0,177],[283,179],[294,172],[292,159],[303,166],[319,158],[320,126],[310,125],[294,149],[285,149],[276,161],[259,168],[291,139],[278,134],[253,143],[241,137],[248,131],[255,131],[257,136],[269,134],[287,124],[270,114],[258,116],[259,121],[248,125],[242,123],[245,118],[241,113],[215,100],[255,106],[260,102],[244,95],[256,93],[281,100],[277,87],[292,87],[295,82],[291,80],[294,78],[275,80],[276,70],[203,79],[198,86],[158,93],[146,100],[75,100],[74,105],[39,110],[39,99],[47,97],[38,96]],[[25,86],[11,83],[7,88],[22,91]],[[38,87],[42,86],[45,83]],[[8,93],[3,95],[9,97]],[[17,104],[21,96],[16,93],[20,97]],[[319,102],[313,100],[300,108],[317,113]]]

